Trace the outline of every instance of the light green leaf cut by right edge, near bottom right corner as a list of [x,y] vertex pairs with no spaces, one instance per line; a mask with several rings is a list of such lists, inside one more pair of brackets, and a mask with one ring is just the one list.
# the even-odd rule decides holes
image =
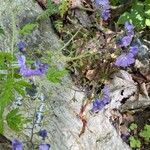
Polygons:
[[139,135],[143,137],[146,141],[150,141],[150,125],[146,124],[144,126],[144,130],[141,131]]

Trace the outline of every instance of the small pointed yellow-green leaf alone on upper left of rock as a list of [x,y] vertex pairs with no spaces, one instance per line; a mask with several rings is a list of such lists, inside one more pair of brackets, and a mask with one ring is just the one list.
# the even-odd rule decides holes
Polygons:
[[22,35],[28,35],[37,27],[38,27],[37,23],[28,23],[24,25],[22,29],[19,30],[19,33]]

